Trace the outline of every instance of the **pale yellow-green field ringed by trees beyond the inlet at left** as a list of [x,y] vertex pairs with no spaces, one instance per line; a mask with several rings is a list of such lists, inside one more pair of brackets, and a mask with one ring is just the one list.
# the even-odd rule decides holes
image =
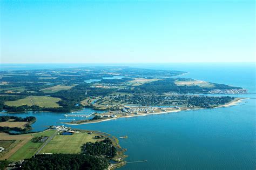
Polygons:
[[60,107],[57,102],[61,100],[60,98],[53,98],[49,96],[30,96],[24,99],[19,99],[15,101],[5,101],[5,105],[8,106],[22,106],[22,105],[38,105],[40,107]]

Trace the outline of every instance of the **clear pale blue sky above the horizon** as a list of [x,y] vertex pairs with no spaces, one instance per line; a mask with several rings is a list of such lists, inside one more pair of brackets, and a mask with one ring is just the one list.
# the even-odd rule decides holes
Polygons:
[[255,62],[255,2],[5,1],[1,63]]

